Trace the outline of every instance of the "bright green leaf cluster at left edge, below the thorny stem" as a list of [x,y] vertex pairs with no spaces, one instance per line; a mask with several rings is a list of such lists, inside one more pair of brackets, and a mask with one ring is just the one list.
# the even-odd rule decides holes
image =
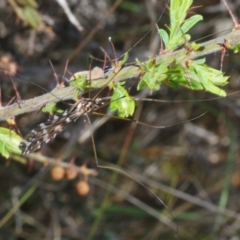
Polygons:
[[22,138],[13,130],[8,128],[0,127],[0,154],[9,158],[11,153],[21,154],[22,151],[19,149],[19,144]]

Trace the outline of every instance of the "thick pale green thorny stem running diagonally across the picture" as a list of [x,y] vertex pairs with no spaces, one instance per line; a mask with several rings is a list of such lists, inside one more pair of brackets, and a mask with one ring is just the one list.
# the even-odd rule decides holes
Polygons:
[[[191,51],[183,48],[181,50],[166,53],[156,57],[156,64],[164,60],[166,66],[171,63],[182,63],[190,59],[206,56],[208,54],[219,52],[222,49],[222,44],[226,43],[228,46],[235,46],[240,44],[240,30],[234,30],[224,36],[215,38],[211,41],[200,44],[201,51]],[[146,61],[147,62],[147,61]],[[145,62],[143,62],[145,64]],[[131,78],[136,78],[140,75],[141,69],[134,65],[134,63],[127,65],[121,69],[117,74],[114,71],[109,71],[100,79],[91,80],[91,88],[98,89],[107,86],[112,81],[119,82]],[[0,108],[0,121],[7,120],[19,114],[40,110],[45,104],[50,102],[58,102],[72,99],[77,96],[77,90],[73,87],[55,88],[52,92],[42,96],[23,101],[21,108],[14,103],[7,107]]]

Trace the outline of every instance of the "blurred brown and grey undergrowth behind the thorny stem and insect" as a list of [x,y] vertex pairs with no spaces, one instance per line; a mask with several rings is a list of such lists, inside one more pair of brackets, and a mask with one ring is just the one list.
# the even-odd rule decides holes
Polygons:
[[[239,3],[228,2],[240,16]],[[101,46],[114,58],[109,37],[117,57],[139,40],[129,52],[129,61],[156,56],[160,48],[156,23],[160,28],[169,23],[166,4],[163,0],[39,0],[36,5],[33,0],[1,0],[2,104],[14,96],[9,75],[22,99],[53,89],[56,80],[49,60],[60,78],[67,59],[71,72],[102,67],[101,61],[89,60],[89,56],[103,60]],[[190,14],[202,14],[204,20],[191,30],[192,40],[206,41],[231,30],[230,16],[220,1],[196,0],[193,6],[198,7]],[[220,68],[219,53],[206,59]],[[228,52],[224,59],[223,70],[231,76],[225,87],[229,94],[240,90],[239,60],[239,54]],[[133,94],[137,81],[128,81]],[[36,154],[37,160],[28,158],[26,162],[1,158],[0,238],[240,239],[239,93],[198,101],[213,97],[164,85],[149,98],[169,102],[141,101],[135,118],[164,126],[207,114],[166,129],[90,115],[92,127],[86,119],[69,124],[42,148],[47,159],[41,153]],[[35,112],[18,116],[16,122],[26,135],[44,119],[46,114]],[[130,177],[96,168],[91,132],[99,164],[111,164]],[[51,164],[46,164],[49,158],[88,172],[73,180],[55,181]],[[21,207],[14,208],[19,202],[23,202]]]

